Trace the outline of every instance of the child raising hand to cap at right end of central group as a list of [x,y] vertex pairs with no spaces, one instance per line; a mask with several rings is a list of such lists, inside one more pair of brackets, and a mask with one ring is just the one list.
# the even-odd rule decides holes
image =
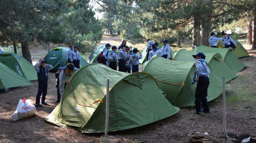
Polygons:
[[[132,50],[132,55],[130,57],[130,63],[132,64],[132,73],[135,73],[135,72],[139,72],[139,59],[142,59],[142,53],[140,51],[138,51],[137,48],[134,48]],[[137,55],[137,52],[140,53],[140,55]]]

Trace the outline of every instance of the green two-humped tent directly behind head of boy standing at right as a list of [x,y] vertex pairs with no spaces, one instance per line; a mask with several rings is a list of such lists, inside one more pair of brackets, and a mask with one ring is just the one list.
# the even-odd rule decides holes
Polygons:
[[[197,52],[188,51],[186,49],[181,49],[180,51],[174,51],[172,54],[172,59],[178,61],[194,61],[195,58],[192,55],[197,54]],[[222,80],[222,77],[226,77],[226,82],[237,77],[236,74],[226,65],[222,60],[221,54],[219,53],[204,53],[205,60],[208,63],[210,72],[215,74],[219,79]]]

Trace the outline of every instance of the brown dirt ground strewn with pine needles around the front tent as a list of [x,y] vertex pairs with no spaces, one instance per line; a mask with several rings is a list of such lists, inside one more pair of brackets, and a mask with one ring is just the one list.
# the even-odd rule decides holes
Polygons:
[[[105,44],[106,38],[109,37],[103,37],[101,44]],[[120,38],[114,37],[112,40],[117,41],[116,45],[120,43]],[[40,47],[31,47],[30,50],[34,56],[33,63],[47,53]],[[227,132],[228,136],[237,140],[234,142],[241,142],[249,136],[256,137],[256,50],[248,50],[248,53],[250,57],[241,59],[248,67],[236,73],[238,77],[228,83],[231,88],[227,90],[226,99]],[[12,120],[18,100],[26,97],[35,102],[38,82],[0,94],[0,142],[97,142],[98,138],[102,138],[101,133],[79,133],[44,120],[57,105],[53,103],[57,99],[55,81],[54,73],[49,73],[46,96],[49,105],[37,108],[37,116],[20,121]],[[194,107],[182,108],[175,115],[159,122],[134,130],[112,132],[110,136],[121,142],[189,142],[191,137],[187,134],[207,132],[207,138],[212,142],[232,142],[226,141],[223,135],[222,97],[211,101],[210,108],[210,114],[202,115],[194,114]]]

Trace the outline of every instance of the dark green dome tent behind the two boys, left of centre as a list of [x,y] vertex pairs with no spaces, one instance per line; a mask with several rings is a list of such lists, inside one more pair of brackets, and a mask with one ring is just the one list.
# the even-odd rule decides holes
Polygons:
[[[63,67],[68,64],[66,62],[66,55],[68,52],[68,47],[57,47],[51,50],[45,57],[44,60],[47,61],[46,64],[52,65],[52,70],[57,70],[59,67]],[[80,67],[88,65],[83,54],[80,54]]]

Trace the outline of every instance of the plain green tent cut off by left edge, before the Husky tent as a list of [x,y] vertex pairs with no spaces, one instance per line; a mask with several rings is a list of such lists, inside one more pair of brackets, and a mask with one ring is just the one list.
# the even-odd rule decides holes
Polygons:
[[11,68],[0,62],[0,90],[18,86],[33,85],[30,81],[21,77]]

